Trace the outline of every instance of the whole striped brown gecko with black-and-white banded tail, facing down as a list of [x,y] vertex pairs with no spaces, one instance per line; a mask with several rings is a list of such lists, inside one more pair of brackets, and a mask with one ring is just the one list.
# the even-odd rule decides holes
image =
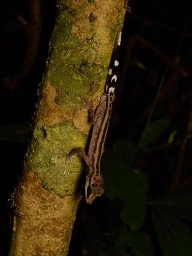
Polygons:
[[[91,123],[93,125],[92,135],[87,154],[83,148],[73,149],[70,153],[64,151],[67,159],[72,157],[77,152],[81,152],[85,163],[89,168],[88,175],[85,181],[85,200],[87,204],[92,204],[97,196],[102,195],[103,177],[100,170],[101,157],[104,152],[105,138],[108,131],[108,125],[111,117],[112,103],[115,99],[115,84],[117,81],[117,73],[119,66],[119,47],[121,44],[122,32],[119,32],[116,46],[113,49],[111,62],[108,69],[108,75],[105,83],[105,91],[102,94],[99,105],[94,113],[93,99],[86,101],[87,110],[90,113]],[[82,97],[83,98],[83,97]]]

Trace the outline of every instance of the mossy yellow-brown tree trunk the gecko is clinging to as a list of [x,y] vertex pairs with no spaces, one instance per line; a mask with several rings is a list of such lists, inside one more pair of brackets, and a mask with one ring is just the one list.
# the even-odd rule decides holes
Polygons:
[[[66,256],[84,173],[81,158],[65,164],[62,149],[87,143],[90,123],[80,95],[104,90],[123,0],[58,1],[49,57],[23,171],[13,201],[10,256]],[[98,104],[96,102],[96,104]]]

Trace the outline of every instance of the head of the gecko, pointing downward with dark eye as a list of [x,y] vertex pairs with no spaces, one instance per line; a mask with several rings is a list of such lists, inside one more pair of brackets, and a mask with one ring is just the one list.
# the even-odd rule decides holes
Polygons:
[[87,175],[85,182],[85,199],[87,204],[92,204],[93,200],[103,193],[103,177],[102,175]]

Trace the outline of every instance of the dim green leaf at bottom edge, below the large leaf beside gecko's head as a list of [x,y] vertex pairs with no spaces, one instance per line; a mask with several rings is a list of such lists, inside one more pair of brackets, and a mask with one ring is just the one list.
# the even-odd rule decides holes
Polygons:
[[154,256],[154,250],[148,234],[138,230],[127,230],[125,236],[114,233],[105,233],[105,237],[116,246],[126,244],[131,247],[130,252],[136,256]]

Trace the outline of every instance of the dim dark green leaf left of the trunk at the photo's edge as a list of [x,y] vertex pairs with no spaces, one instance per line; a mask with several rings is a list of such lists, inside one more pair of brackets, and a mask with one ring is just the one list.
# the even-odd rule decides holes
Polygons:
[[0,128],[0,140],[27,143],[30,132],[30,122],[21,121],[17,124],[5,125]]

